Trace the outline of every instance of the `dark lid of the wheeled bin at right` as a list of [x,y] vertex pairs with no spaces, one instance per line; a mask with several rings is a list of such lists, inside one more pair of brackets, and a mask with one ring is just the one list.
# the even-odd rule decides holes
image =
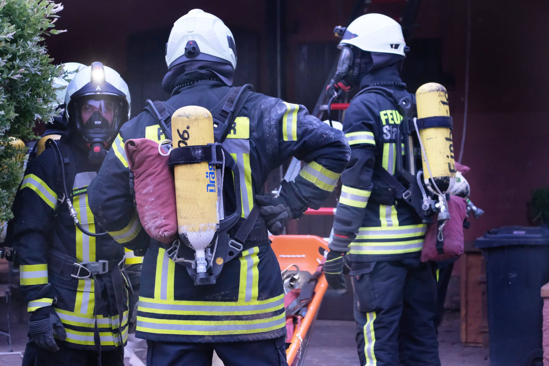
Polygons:
[[479,249],[508,245],[549,245],[549,228],[504,226],[488,230],[475,242]]

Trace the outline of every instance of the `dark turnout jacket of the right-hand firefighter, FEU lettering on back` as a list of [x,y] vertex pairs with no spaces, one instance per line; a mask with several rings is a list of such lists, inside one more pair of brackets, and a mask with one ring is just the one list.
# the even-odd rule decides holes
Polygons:
[[[366,75],[362,87],[380,82],[400,82],[396,67]],[[399,95],[410,95],[403,86],[387,86]],[[398,261],[421,255],[426,226],[404,200],[379,204],[374,185],[379,166],[395,173],[397,128],[403,117],[395,102],[384,95],[365,92],[353,99],[345,111],[343,131],[351,148],[349,165],[341,174],[341,196],[334,218],[329,247],[348,251],[358,262]],[[404,149],[403,149],[404,150]],[[376,163],[378,167],[376,168]]]

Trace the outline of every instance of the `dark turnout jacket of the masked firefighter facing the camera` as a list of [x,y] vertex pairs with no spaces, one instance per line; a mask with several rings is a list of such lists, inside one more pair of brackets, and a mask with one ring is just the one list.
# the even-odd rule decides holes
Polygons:
[[[57,144],[69,160],[64,166],[65,178],[77,217],[83,228],[98,233],[87,187],[99,166],[88,162],[83,140],[76,136],[62,139]],[[89,237],[75,226],[61,182],[59,156],[53,147],[47,147],[29,162],[15,195],[10,244],[20,264],[27,310],[53,306],[65,327],[68,347],[96,350],[97,322],[102,349],[114,349],[127,339],[127,285],[117,265],[124,260],[124,247],[109,235]],[[71,277],[71,273],[79,277],[88,274],[82,268],[77,272],[74,263],[99,260],[110,262],[109,272]]]

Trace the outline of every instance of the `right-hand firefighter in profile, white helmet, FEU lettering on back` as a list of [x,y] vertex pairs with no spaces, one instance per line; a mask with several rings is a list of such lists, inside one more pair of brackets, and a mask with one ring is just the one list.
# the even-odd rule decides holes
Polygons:
[[[366,14],[338,31],[341,58],[330,97],[351,86],[374,86],[389,89],[396,100],[413,100],[399,76],[407,47],[396,21]],[[366,91],[351,100],[343,121],[351,159],[341,174],[324,272],[330,286],[343,289],[343,269],[350,270],[358,356],[367,366],[440,365],[436,282],[430,264],[419,260],[426,224],[380,178],[383,170],[395,174],[402,158],[396,136],[405,117],[395,99]]]

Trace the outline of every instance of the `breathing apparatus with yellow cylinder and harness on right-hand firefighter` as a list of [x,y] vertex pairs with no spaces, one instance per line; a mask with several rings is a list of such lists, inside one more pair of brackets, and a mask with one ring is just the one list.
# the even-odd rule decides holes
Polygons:
[[[425,84],[418,89],[420,94],[435,93],[436,95],[431,97],[439,98],[440,100],[436,100],[436,103],[446,107],[445,115],[435,111],[435,115],[423,118],[416,117],[417,102],[414,94],[406,92],[406,95],[399,95],[391,89],[372,86],[362,89],[354,98],[364,93],[376,93],[389,99],[397,106],[403,117],[396,133],[395,174],[391,174],[376,162],[372,179],[374,187],[369,200],[380,205],[393,205],[396,199],[402,199],[417,212],[423,223],[433,223],[434,213],[438,212],[439,224],[444,226],[444,222],[450,218],[446,194],[453,185],[456,173],[451,138],[453,122],[447,112],[446,89],[435,83]],[[427,100],[427,102],[433,104],[433,100]],[[439,115],[436,115],[437,113]],[[448,145],[447,155],[425,154],[425,142],[422,141],[425,138],[422,133],[429,129],[438,129],[434,131],[440,135],[435,139],[435,143],[439,143],[441,137],[442,141]],[[438,148],[439,151],[444,151],[440,145]],[[431,174],[432,167],[437,168],[434,177]],[[442,228],[440,233],[441,230]]]

